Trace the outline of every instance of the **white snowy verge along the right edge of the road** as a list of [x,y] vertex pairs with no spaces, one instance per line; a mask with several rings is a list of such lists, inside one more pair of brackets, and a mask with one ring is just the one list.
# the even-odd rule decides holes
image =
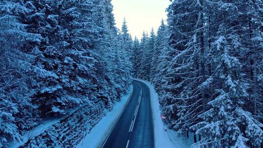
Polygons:
[[193,136],[190,133],[190,138],[179,137],[176,131],[165,128],[164,122],[161,119],[158,94],[155,92],[154,87],[147,81],[141,79],[135,80],[145,83],[150,89],[155,148],[190,148],[193,143]]

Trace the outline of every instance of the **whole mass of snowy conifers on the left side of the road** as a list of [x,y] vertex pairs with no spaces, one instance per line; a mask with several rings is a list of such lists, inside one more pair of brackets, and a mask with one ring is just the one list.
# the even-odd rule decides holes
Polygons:
[[126,92],[132,41],[112,11],[111,0],[0,1],[0,148],[43,117],[111,109]]

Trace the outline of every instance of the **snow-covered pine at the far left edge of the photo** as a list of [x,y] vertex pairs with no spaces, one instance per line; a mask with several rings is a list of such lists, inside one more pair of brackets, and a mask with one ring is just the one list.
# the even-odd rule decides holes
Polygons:
[[[26,33],[26,18],[33,10],[19,0],[0,1],[0,147],[7,141],[19,142],[20,129],[35,124],[34,107],[27,81],[30,79],[31,56],[23,53],[27,42],[39,42],[39,36]],[[20,116],[19,116],[20,115]]]

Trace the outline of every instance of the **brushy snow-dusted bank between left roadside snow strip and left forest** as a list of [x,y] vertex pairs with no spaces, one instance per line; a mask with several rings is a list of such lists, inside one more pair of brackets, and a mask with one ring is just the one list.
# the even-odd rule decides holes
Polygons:
[[[132,92],[132,86],[130,87],[130,91]],[[129,97],[126,95],[122,97],[121,100],[124,101],[125,98]],[[57,123],[52,121],[52,126],[45,126],[45,130],[41,130],[40,134],[30,138],[21,147],[75,148],[80,142],[82,142],[83,138],[91,133],[93,128],[107,115],[108,112],[109,111],[105,109],[105,106],[102,102],[99,102],[95,105],[87,104],[83,107],[80,107],[69,116],[59,120]],[[110,120],[107,122],[110,122]],[[104,129],[101,128],[100,130],[103,131]],[[95,133],[94,135],[98,136],[99,133]],[[96,137],[93,137],[92,142],[95,140]],[[88,144],[89,145],[85,146],[84,148],[96,148],[93,146],[90,147],[92,144],[91,141],[89,141]]]

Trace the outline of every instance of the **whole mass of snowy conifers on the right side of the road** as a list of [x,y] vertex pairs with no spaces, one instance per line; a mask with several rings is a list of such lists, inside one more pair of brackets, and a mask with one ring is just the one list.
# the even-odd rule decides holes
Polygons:
[[171,0],[168,25],[134,50],[167,126],[199,135],[192,148],[263,145],[262,10],[262,0]]

